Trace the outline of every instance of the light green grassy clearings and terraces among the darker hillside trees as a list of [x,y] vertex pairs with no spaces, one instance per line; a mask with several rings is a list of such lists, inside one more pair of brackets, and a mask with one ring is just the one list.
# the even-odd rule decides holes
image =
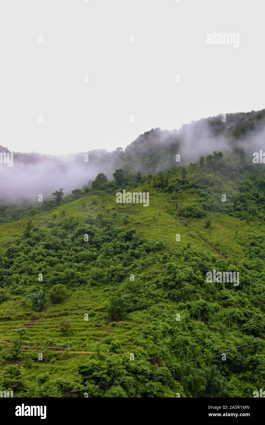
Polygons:
[[[140,189],[138,189],[140,190]],[[137,191],[137,189],[131,190]],[[82,210],[81,204],[86,201],[85,211]],[[151,188],[150,190],[150,203],[148,207],[143,207],[141,204],[116,204],[115,197],[106,193],[101,193],[100,196],[84,195],[82,198],[70,204],[58,207],[51,212],[43,212],[34,218],[32,223],[42,226],[45,221],[50,220],[53,214],[57,214],[54,222],[60,220],[59,213],[61,210],[66,211],[67,217],[82,218],[88,211],[91,211],[90,204],[93,199],[98,199],[99,203],[92,208],[93,215],[98,212],[106,212],[109,214],[110,210],[116,209],[119,213],[127,212],[131,217],[130,225],[135,228],[137,232],[154,241],[163,241],[165,244],[165,251],[179,249],[181,246],[191,242],[194,249],[199,251],[208,252],[208,254],[225,255],[233,258],[244,258],[243,246],[244,238],[248,233],[250,226],[245,221],[240,221],[236,218],[224,215],[221,213],[212,214],[212,229],[209,235],[208,229],[204,229],[204,219],[191,219],[189,224],[174,217],[172,212],[176,212],[177,202],[180,206],[188,206],[194,203],[196,199],[192,193],[182,192],[178,195],[176,201],[172,201],[169,195],[162,193],[160,190]],[[16,238],[19,238],[23,233],[23,224],[26,224],[28,219],[20,220],[11,224],[4,224],[0,227],[0,249],[4,250]],[[234,238],[235,228],[238,229],[238,242]],[[264,232],[264,226],[261,226],[260,231]],[[10,232],[10,233],[9,233]],[[180,233],[181,240],[176,242],[176,233]],[[216,248],[220,254],[216,252]],[[147,267],[147,277],[151,281],[155,276],[153,266]],[[135,280],[137,281],[137,271],[135,271]],[[123,283],[120,283],[122,285]],[[93,309],[95,312],[100,312],[105,306],[105,301],[108,299],[108,282],[105,285],[97,287],[88,286],[86,289],[77,289],[75,298],[69,298],[62,305],[52,306],[49,302],[46,303],[42,312],[32,312],[29,302],[26,304],[20,302],[18,296],[15,300],[3,302],[0,309],[4,314],[9,314],[9,320],[1,320],[0,318],[0,341],[9,341],[14,337],[11,329],[20,327],[27,327],[26,343],[23,346],[25,350],[36,350],[34,346],[40,346],[41,342],[46,338],[52,338],[55,347],[60,345],[71,344],[72,348],[67,351],[62,351],[61,360],[56,361],[56,368],[60,368],[60,375],[67,376],[69,379],[74,379],[74,366],[76,365],[76,358],[84,359],[91,353],[97,352],[97,341],[103,341],[106,336],[113,336],[120,340],[124,352],[130,353],[133,350],[141,350],[137,346],[135,335],[137,329],[143,323],[148,324],[148,309],[146,311],[132,312],[129,314],[128,320],[125,322],[117,323],[112,327],[111,323],[107,320],[100,322],[94,317],[89,317],[88,322],[84,321],[83,314]],[[168,312],[175,311],[176,304],[168,301]],[[59,331],[59,321],[62,317],[71,317],[74,322],[74,332],[71,336],[63,337]],[[108,346],[106,345],[106,350]],[[36,356],[38,350],[36,351]],[[106,351],[102,353],[104,357],[111,355]],[[13,363],[13,361],[6,361]],[[15,362],[17,363],[17,362]],[[37,359],[32,363],[31,369],[28,372],[28,379],[31,385],[34,384],[34,378],[38,374],[42,374],[44,369],[52,375],[54,371],[54,362],[44,364],[38,362]],[[36,384],[37,385],[37,384]]]

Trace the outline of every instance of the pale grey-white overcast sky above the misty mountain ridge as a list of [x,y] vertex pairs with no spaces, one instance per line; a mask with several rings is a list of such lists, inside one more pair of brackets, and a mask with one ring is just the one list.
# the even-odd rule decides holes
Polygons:
[[[264,5],[2,0],[0,144],[113,150],[151,128],[264,108]],[[206,44],[214,31],[239,33],[239,47]]]

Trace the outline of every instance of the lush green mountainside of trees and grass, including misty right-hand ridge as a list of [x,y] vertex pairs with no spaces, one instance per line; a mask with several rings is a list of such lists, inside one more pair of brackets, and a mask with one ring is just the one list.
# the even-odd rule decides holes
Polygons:
[[[185,126],[153,129],[109,154],[111,178],[102,166],[69,194],[54,187],[40,202],[1,204],[0,391],[253,397],[262,388],[265,168],[248,140],[264,120],[265,110],[209,118],[225,150],[213,144],[192,161]],[[118,204],[123,190],[149,193],[148,207]],[[209,281],[214,269],[239,272],[239,285]]]

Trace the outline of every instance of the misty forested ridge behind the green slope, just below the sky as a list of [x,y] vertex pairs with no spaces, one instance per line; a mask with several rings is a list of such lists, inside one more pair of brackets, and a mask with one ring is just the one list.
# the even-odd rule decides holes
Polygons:
[[[40,193],[47,200],[56,187],[65,187],[69,195],[84,185],[90,187],[103,172],[108,180],[120,169],[127,175],[159,173],[176,165],[176,154],[181,155],[182,165],[196,161],[199,156],[206,157],[213,150],[225,153],[236,146],[251,155],[264,146],[264,129],[265,110],[227,113],[225,121],[220,114],[183,124],[179,130],[151,129],[124,150],[121,147],[113,152],[96,149],[62,156],[14,152],[13,167],[0,164],[0,204],[34,203]],[[0,151],[9,150],[0,146]],[[85,155],[88,155],[86,162]],[[103,183],[99,177],[94,187]]]

